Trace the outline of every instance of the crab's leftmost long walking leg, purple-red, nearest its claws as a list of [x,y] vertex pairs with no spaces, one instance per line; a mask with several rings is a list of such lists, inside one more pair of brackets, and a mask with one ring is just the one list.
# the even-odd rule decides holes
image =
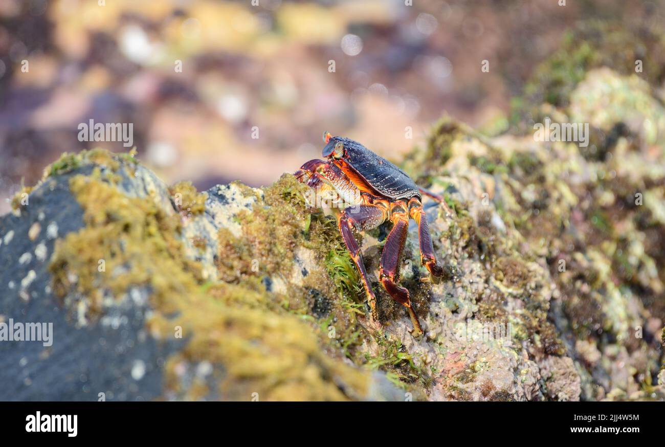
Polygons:
[[388,217],[388,210],[377,205],[356,205],[346,208],[340,215],[338,225],[339,231],[342,233],[342,239],[344,239],[344,244],[348,253],[351,255],[358,271],[360,271],[360,277],[362,278],[362,285],[365,288],[367,293],[367,302],[370,305],[370,319],[372,323],[378,323],[378,314],[376,313],[376,295],[372,291],[372,285],[367,278],[367,271],[365,270],[365,265],[362,261],[362,254],[360,253],[360,247],[358,242],[353,235],[353,229],[364,231],[367,229],[372,229],[378,227],[386,221]]

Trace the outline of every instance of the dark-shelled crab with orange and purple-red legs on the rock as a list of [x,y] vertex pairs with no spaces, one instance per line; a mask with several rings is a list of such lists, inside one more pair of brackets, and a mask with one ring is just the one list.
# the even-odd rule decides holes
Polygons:
[[332,136],[325,132],[323,157],[309,160],[301,166],[295,177],[319,191],[334,192],[341,199],[337,213],[337,226],[344,245],[353,259],[367,295],[369,318],[374,327],[380,327],[376,311],[376,295],[367,277],[354,231],[362,233],[384,222],[392,222],[380,261],[379,281],[386,293],[406,307],[413,324],[414,337],[424,332],[409,298],[409,291],[399,284],[400,263],[406,244],[409,219],[418,225],[420,262],[428,269],[430,281],[439,283],[443,269],[437,262],[432,237],[422,206],[422,197],[428,196],[452,211],[444,200],[417,186],[400,168],[374,154],[350,138]]

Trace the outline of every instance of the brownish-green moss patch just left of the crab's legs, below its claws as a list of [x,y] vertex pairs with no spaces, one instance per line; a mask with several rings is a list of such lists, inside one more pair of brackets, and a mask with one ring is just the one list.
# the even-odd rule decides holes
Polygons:
[[[269,293],[273,305],[319,325],[321,341],[361,364],[356,347],[366,331],[356,317],[365,316],[364,293],[359,277],[334,220],[319,210],[307,210],[307,186],[287,174],[273,186],[264,188],[261,202],[238,216],[242,235],[228,229],[218,232],[217,269],[223,281],[243,284],[262,278],[289,278],[294,268],[295,250],[311,249],[325,270],[311,271],[303,285],[284,281],[285,293]],[[256,193],[247,188],[247,195]],[[315,311],[325,302],[325,312]],[[323,312],[322,315],[314,314]],[[334,329],[334,337],[328,334]],[[361,336],[362,335],[362,336]]]

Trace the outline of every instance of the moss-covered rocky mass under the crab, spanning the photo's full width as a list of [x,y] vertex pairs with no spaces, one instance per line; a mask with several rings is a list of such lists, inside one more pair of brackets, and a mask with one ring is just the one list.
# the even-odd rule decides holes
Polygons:
[[197,192],[169,188],[132,154],[64,156],[0,219],[3,321],[53,323],[49,347],[0,343],[0,398],[662,398],[664,141],[636,138],[634,124],[660,128],[662,108],[604,114],[608,80],[624,98],[652,94],[592,70],[552,116],[593,117],[603,131],[631,117],[604,146],[612,156],[444,118],[404,160],[456,212],[424,202],[438,284],[423,281],[409,228],[400,277],[420,339],[378,283],[389,227],[362,241],[374,331],[334,220],[290,174]]

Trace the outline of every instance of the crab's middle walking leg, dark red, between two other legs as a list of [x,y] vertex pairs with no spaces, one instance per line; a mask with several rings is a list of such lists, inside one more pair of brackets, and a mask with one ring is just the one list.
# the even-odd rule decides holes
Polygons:
[[414,325],[412,334],[414,337],[422,335],[422,327],[418,316],[414,312],[411,300],[409,299],[408,289],[398,284],[400,273],[400,262],[402,261],[402,251],[406,243],[406,232],[409,227],[409,218],[406,209],[402,206],[394,206],[391,212],[393,226],[386,239],[386,245],[383,247],[381,255],[380,280],[388,295],[398,303],[406,307]]

